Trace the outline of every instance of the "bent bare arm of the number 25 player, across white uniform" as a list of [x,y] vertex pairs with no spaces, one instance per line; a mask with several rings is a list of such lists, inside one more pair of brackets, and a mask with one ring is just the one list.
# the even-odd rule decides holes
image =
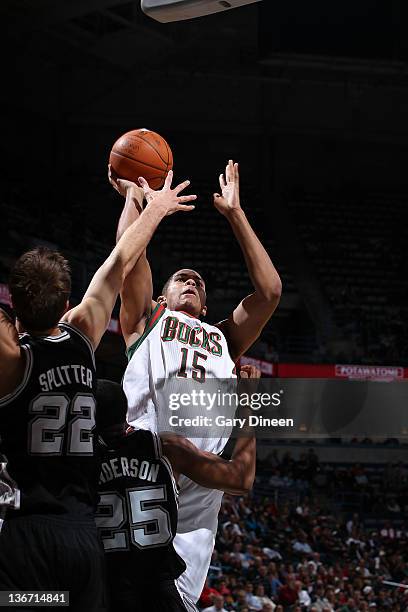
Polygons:
[[[231,495],[245,495],[255,478],[255,438],[242,438],[234,449],[231,461],[197,449],[186,438],[161,434],[163,454],[174,469],[209,489],[220,489]],[[237,443],[238,444],[238,443]]]

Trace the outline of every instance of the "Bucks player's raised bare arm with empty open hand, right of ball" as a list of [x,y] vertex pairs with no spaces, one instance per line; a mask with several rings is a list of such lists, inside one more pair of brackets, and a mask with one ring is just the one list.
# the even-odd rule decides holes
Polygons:
[[242,300],[228,319],[219,324],[227,338],[231,356],[236,360],[259,337],[275,311],[280,300],[282,283],[268,253],[241,208],[238,164],[230,160],[225,176],[221,174],[219,181],[221,194],[214,194],[214,205],[231,225],[255,289],[254,293]]

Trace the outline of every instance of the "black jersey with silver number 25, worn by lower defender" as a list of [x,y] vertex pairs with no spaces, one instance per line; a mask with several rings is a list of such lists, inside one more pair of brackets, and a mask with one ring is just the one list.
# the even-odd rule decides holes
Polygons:
[[113,596],[184,572],[173,547],[178,489],[157,434],[130,428],[105,447],[99,494],[96,524]]

